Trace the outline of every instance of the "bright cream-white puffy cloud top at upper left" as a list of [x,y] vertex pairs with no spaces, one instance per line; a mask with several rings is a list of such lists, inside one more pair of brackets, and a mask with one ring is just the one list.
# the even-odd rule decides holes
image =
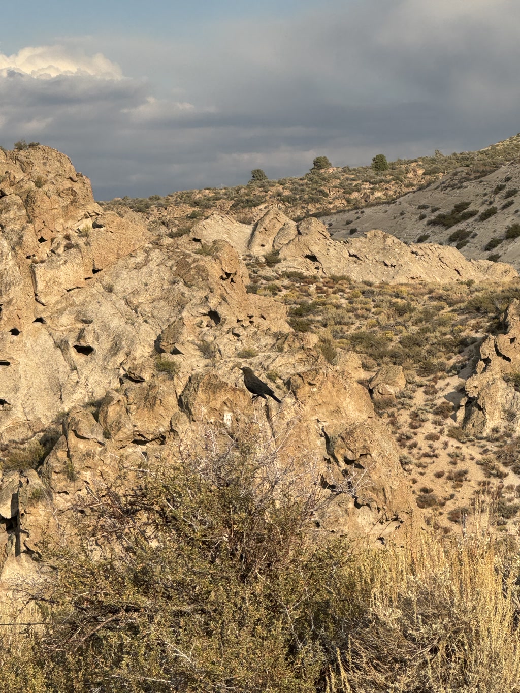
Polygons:
[[13,55],[0,53],[0,75],[19,73],[37,79],[59,75],[89,75],[105,80],[120,80],[121,69],[102,53],[85,55],[64,46],[27,46]]

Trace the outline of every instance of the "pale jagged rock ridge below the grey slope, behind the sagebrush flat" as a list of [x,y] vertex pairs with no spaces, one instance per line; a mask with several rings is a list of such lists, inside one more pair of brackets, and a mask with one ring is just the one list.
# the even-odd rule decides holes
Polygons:
[[199,222],[190,238],[202,243],[222,239],[239,255],[279,254],[278,272],[310,276],[346,276],[354,281],[409,283],[411,281],[512,281],[518,273],[510,265],[488,260],[467,260],[449,245],[402,243],[395,236],[372,230],[365,238],[333,240],[318,219],[296,224],[283,212],[267,209],[251,227],[229,216],[213,214]]

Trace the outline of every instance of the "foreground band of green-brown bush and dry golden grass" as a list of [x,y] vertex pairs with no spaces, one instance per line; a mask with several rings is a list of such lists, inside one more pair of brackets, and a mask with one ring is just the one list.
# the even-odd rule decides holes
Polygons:
[[319,534],[312,468],[279,468],[248,430],[208,431],[198,451],[127,469],[132,490],[121,477],[78,501],[19,586],[36,624],[1,626],[2,690],[520,690],[518,562],[480,505],[471,534],[442,541]]

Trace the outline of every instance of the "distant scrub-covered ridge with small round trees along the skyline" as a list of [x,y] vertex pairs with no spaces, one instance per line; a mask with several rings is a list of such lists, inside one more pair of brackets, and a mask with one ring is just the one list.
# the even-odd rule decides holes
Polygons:
[[181,233],[213,212],[233,213],[239,221],[255,218],[255,210],[276,204],[287,216],[301,219],[395,200],[438,180],[457,168],[469,181],[492,173],[520,156],[520,134],[476,152],[454,152],[419,159],[397,159],[388,170],[370,166],[310,170],[301,177],[250,182],[231,188],[204,188],[171,193],[161,198],[116,198],[102,202],[105,209],[131,209],[145,213],[149,222],[161,222],[171,232]]

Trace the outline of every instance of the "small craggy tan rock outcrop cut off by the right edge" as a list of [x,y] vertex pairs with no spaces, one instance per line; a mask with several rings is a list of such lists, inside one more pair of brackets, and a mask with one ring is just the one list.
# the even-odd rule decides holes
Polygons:
[[503,316],[505,334],[489,335],[481,345],[476,374],[465,383],[465,430],[489,435],[506,426],[520,432],[520,301],[515,299]]

